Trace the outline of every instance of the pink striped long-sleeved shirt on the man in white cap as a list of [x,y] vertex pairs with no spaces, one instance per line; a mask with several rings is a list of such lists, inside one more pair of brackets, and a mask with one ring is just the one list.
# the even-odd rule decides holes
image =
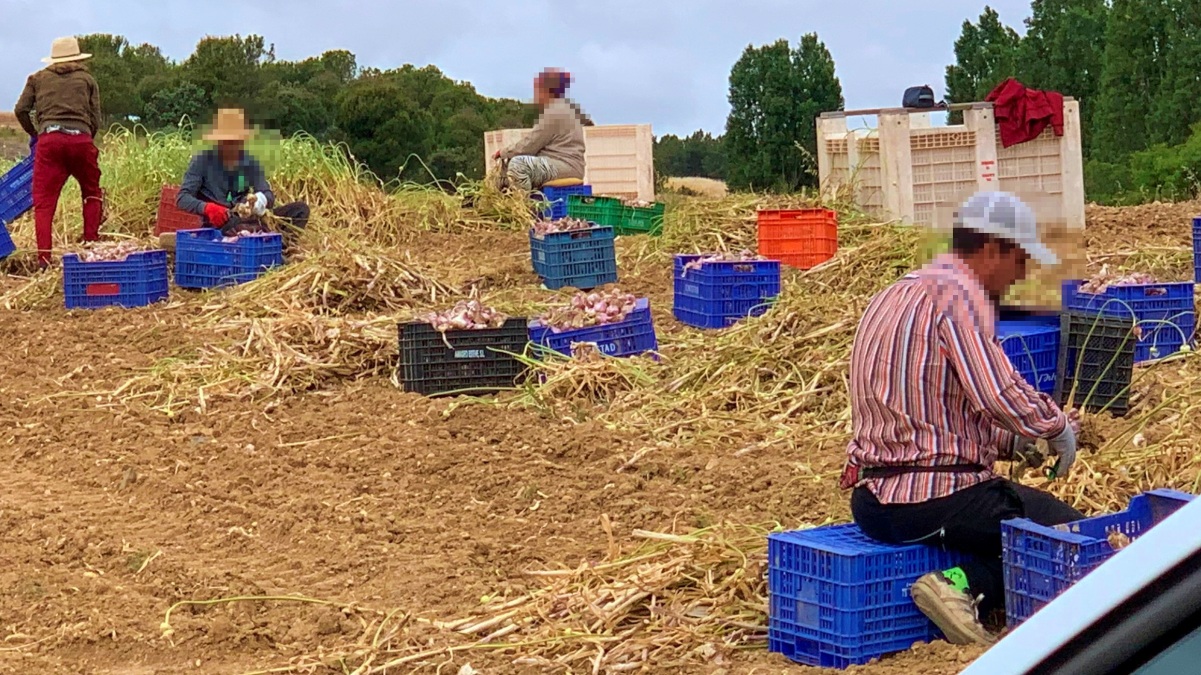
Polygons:
[[[996,310],[954,255],[885,288],[864,312],[850,354],[852,441],[842,488],[880,503],[916,503],[996,478],[1018,436],[1060,434],[1068,418],[1014,370]],[[979,465],[984,471],[860,479],[889,466]]]

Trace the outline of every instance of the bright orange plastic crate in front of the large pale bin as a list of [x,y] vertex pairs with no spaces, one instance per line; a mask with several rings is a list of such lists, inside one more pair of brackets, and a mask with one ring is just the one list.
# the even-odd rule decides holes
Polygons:
[[759,255],[797,269],[838,252],[838,214],[830,209],[759,211]]

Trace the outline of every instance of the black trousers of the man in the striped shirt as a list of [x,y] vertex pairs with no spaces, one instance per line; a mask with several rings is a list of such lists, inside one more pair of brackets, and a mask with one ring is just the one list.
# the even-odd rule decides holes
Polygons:
[[943,546],[972,556],[960,567],[973,597],[984,596],[981,616],[1005,607],[1002,520],[1028,518],[1039,525],[1062,525],[1085,518],[1047,492],[1003,478],[915,504],[882,504],[871,490],[856,488],[850,496],[850,513],[873,539]]

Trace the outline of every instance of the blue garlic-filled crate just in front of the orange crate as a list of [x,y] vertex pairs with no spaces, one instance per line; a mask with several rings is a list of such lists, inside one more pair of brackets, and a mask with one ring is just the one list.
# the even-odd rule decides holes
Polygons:
[[712,262],[685,265],[701,256],[676,256],[671,313],[698,328],[725,328],[760,316],[779,295],[779,262]]

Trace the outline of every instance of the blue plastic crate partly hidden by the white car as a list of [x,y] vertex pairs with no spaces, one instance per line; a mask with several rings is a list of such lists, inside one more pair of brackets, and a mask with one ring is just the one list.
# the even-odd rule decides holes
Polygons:
[[1106,538],[1134,538],[1193,500],[1176,490],[1153,490],[1130,500],[1119,513],[1046,527],[1018,518],[1000,524],[1005,569],[1005,620],[1010,628],[1029,619],[1116,552]]

